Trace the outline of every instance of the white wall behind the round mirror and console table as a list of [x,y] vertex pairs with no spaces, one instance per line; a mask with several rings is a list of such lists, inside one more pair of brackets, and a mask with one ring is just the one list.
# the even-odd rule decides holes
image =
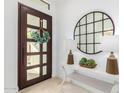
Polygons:
[[[118,34],[118,0],[57,0],[57,47],[58,47],[58,61],[57,70],[60,77],[63,76],[60,69],[61,64],[67,62],[68,51],[65,47],[67,38],[73,39],[73,32],[77,21],[85,14],[91,11],[102,11],[111,16],[115,23],[115,33]],[[96,55],[86,55],[81,52],[76,52],[76,61],[79,58],[87,56],[96,60],[98,70],[105,70],[106,56],[105,53]]]

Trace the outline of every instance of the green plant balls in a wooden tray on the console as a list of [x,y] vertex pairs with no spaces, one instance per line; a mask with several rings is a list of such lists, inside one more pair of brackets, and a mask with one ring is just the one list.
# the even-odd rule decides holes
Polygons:
[[85,57],[81,58],[79,65],[81,67],[86,67],[86,68],[95,68],[96,67],[96,62],[93,59],[87,59]]

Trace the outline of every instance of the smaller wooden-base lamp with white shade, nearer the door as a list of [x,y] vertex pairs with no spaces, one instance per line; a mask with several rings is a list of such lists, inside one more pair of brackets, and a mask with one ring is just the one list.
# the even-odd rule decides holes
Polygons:
[[65,40],[65,47],[66,50],[69,51],[68,57],[67,57],[67,64],[72,65],[74,64],[74,57],[72,54],[72,51],[76,50],[76,42],[72,39]]

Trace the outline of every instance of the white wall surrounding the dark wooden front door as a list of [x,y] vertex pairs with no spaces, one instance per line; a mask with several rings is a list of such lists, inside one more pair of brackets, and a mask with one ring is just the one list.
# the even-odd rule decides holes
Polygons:
[[[47,0],[48,1],[48,0]],[[4,38],[4,77],[5,93],[16,93],[18,90],[18,2],[37,9],[53,17],[53,76],[56,75],[56,27],[55,27],[55,2],[49,0],[51,10],[48,11],[44,4],[33,3],[31,0],[4,0],[4,21],[5,21],[5,38]]]

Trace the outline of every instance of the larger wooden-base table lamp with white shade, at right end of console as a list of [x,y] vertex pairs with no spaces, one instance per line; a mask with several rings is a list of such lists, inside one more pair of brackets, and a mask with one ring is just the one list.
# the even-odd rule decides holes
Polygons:
[[110,52],[109,57],[107,58],[106,72],[110,74],[119,74],[118,71],[118,61],[115,57],[115,54],[119,51],[119,37],[107,36],[102,38],[101,47],[104,52]]

